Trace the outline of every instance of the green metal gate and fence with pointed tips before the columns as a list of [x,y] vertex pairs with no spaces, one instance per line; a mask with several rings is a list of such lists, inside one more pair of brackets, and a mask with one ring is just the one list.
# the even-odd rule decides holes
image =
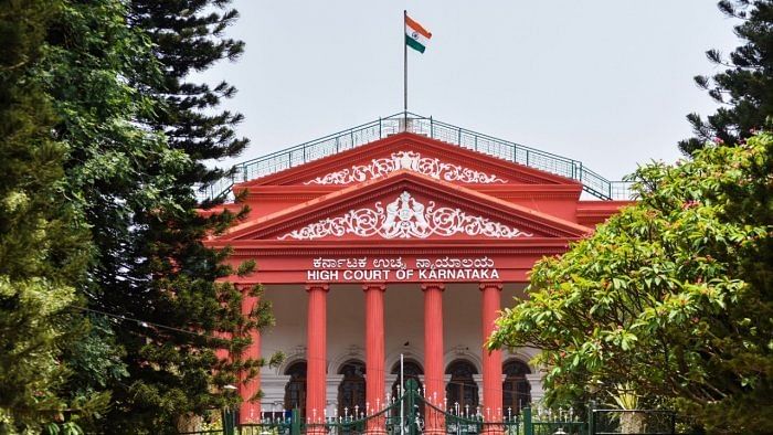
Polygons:
[[343,415],[326,413],[301,417],[299,410],[263,414],[253,423],[236,424],[234,412],[223,414],[223,428],[189,432],[189,435],[671,435],[677,434],[676,413],[659,410],[604,410],[594,404],[583,410],[531,409],[486,410],[459,406],[423,394],[415,380],[405,392],[388,397],[384,405],[366,411],[346,410]]

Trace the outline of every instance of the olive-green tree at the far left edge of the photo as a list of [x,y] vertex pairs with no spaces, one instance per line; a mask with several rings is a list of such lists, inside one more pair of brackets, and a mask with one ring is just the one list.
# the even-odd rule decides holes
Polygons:
[[[72,308],[91,263],[82,214],[65,197],[66,147],[33,77],[59,2],[0,2],[0,432],[74,423],[108,395],[72,395],[63,350],[87,327]],[[60,425],[61,424],[61,425]]]

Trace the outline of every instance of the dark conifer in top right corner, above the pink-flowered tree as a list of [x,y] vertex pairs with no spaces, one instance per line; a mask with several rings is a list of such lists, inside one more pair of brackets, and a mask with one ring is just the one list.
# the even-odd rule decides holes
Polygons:
[[735,34],[743,45],[729,60],[717,50],[706,53],[726,70],[711,78],[696,76],[695,82],[721,106],[707,119],[695,113],[687,116],[695,131],[693,138],[679,142],[687,155],[710,140],[738,145],[754,130],[770,127],[773,115],[773,1],[722,0],[718,4],[726,15],[742,20]]

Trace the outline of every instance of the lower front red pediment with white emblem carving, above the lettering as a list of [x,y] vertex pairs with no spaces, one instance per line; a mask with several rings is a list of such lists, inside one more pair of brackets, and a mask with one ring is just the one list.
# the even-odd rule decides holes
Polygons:
[[400,169],[244,222],[221,241],[528,241],[590,229],[448,181]]

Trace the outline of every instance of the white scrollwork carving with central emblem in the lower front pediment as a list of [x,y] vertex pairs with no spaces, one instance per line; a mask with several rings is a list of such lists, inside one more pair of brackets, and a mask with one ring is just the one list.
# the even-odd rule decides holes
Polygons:
[[350,210],[342,216],[322,219],[277,238],[315,240],[345,234],[360,237],[379,235],[383,238],[426,238],[433,234],[442,237],[466,234],[493,238],[533,235],[487,217],[469,215],[459,209],[435,208],[434,201],[425,206],[403,191],[386,208],[379,201],[373,209]]

